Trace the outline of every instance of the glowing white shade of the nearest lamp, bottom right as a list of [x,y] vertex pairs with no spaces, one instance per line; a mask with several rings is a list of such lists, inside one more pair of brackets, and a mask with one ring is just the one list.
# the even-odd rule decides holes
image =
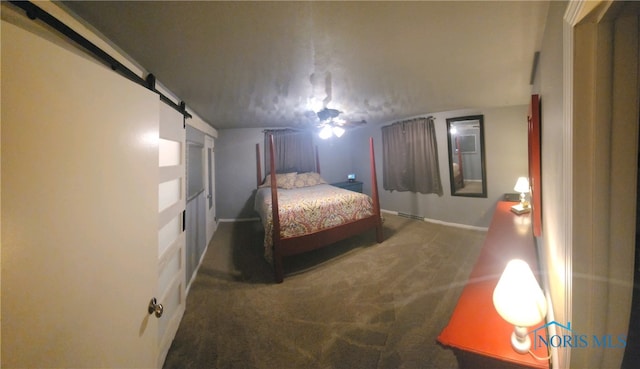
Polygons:
[[531,327],[547,315],[547,302],[529,264],[511,260],[504,269],[496,289],[493,305],[507,322]]

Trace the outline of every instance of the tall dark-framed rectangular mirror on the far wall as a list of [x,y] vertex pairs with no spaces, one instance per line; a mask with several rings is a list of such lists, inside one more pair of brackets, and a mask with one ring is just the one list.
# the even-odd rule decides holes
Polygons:
[[487,197],[484,116],[447,119],[451,196]]

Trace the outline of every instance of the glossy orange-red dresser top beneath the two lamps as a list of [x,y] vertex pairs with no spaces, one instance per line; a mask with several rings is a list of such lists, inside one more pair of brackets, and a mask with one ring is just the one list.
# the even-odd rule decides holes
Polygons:
[[[513,325],[502,319],[493,306],[493,290],[509,260],[522,259],[534,273],[538,270],[530,214],[512,213],[510,208],[514,204],[498,203],[478,261],[438,342],[518,365],[548,368],[547,360],[513,350],[510,341]],[[543,324],[541,321],[533,328]],[[532,351],[539,357],[548,356],[544,346],[532,347]]]

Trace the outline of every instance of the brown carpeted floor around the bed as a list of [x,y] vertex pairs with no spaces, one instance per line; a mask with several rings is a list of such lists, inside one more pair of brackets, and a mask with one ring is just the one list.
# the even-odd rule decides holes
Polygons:
[[285,259],[274,284],[259,222],[221,223],[165,368],[457,368],[436,337],[485,233],[384,214],[370,231]]

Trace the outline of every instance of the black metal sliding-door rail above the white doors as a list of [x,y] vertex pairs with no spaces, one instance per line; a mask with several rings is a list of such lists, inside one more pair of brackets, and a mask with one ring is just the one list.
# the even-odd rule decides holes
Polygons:
[[24,10],[29,19],[40,19],[67,38],[73,40],[86,51],[90,52],[99,60],[110,66],[113,71],[118,72],[120,75],[129,79],[130,81],[135,82],[140,86],[157,93],[158,95],[160,95],[160,100],[162,102],[180,112],[180,114],[182,114],[185,118],[192,118],[191,114],[189,114],[186,110],[186,104],[184,103],[184,101],[180,102],[180,105],[178,105],[156,89],[156,77],[153,74],[149,74],[147,75],[147,79],[143,79],[131,69],[127,68],[125,65],[117,61],[114,57],[96,46],[96,44],[89,41],[84,36],[71,29],[71,27],[62,23],[59,19],[42,10],[42,8],[38,7],[30,1],[10,1],[10,3]]

